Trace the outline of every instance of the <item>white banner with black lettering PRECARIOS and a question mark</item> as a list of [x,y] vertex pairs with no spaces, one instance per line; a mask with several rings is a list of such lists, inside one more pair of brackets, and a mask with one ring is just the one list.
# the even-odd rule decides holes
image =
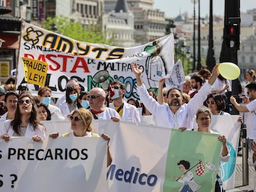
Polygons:
[[102,138],[11,138],[0,152],[0,191],[106,191]]

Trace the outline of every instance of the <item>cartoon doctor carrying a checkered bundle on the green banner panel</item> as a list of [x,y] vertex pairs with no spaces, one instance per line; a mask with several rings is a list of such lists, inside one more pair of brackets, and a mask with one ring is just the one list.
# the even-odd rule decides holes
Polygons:
[[183,174],[181,177],[176,177],[176,182],[182,183],[179,192],[194,192],[197,191],[201,186],[195,183],[194,174],[190,171],[190,162],[181,160],[177,163],[179,169],[182,170]]

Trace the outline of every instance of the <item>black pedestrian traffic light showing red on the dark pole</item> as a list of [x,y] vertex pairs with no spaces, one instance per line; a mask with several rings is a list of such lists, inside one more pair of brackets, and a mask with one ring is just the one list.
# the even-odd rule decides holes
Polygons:
[[240,46],[240,18],[229,18],[225,25],[224,38],[229,49],[239,50]]

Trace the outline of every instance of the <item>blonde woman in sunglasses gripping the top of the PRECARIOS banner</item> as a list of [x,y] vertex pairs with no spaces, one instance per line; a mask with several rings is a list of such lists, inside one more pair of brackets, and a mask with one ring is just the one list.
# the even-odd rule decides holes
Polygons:
[[[71,129],[73,132],[64,133],[62,136],[83,136],[83,137],[100,137],[97,133],[93,133],[93,125],[92,125],[92,113],[85,108],[80,108],[72,112],[72,115],[69,117],[71,122]],[[51,138],[58,138],[59,133],[52,133],[49,135]],[[108,141],[108,159],[107,159],[107,167],[111,164],[113,160],[113,156],[109,149],[109,141],[110,138],[108,135],[104,133],[101,134],[101,137]]]

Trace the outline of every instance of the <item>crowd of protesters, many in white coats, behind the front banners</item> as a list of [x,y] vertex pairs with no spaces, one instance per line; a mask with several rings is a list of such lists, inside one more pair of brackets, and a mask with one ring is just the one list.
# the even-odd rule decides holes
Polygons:
[[[99,83],[90,90],[82,90],[76,78],[69,78],[62,96],[54,98],[53,90],[48,86],[40,86],[37,95],[32,95],[28,83],[17,85],[15,77],[10,77],[4,85],[0,85],[0,138],[10,142],[15,137],[30,137],[35,142],[42,142],[46,137],[53,140],[64,137],[101,137],[107,142],[109,167],[116,158],[111,152],[109,141],[116,138],[96,133],[93,122],[111,120],[113,123],[143,123],[182,133],[193,131],[196,134],[218,134],[218,142],[221,144],[218,159],[228,162],[231,156],[226,142],[228,136],[211,130],[210,125],[213,117],[231,115],[233,105],[240,113],[237,123],[247,125],[248,163],[256,167],[256,73],[252,69],[247,71],[247,85],[241,90],[242,97],[237,98],[230,94],[232,83],[220,74],[220,65],[216,64],[211,72],[204,67],[187,75],[180,86],[170,87],[166,84],[166,77],[159,77],[154,81],[158,88],[153,90],[145,85],[143,69],[137,62],[132,62],[138,98],[126,98],[128,88],[124,81],[119,80],[110,81],[106,89]],[[45,123],[65,120],[70,121],[70,131],[64,134],[49,130]],[[194,176],[190,172],[189,162],[184,159],[177,162],[177,165],[183,172],[175,178],[177,183],[182,183],[179,191],[197,191],[200,186],[197,183],[191,184]],[[213,191],[226,190],[222,186],[221,174],[218,169]],[[150,180],[147,182],[150,183]]]

